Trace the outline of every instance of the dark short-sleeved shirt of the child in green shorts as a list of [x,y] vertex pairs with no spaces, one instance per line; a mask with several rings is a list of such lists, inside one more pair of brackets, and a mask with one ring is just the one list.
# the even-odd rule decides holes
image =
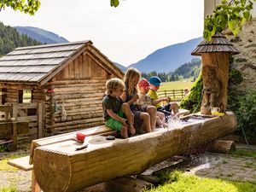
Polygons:
[[107,121],[110,118],[110,116],[107,113],[107,109],[112,109],[113,113],[119,113],[122,104],[123,102],[119,97],[109,95],[104,96],[102,100],[104,119]]

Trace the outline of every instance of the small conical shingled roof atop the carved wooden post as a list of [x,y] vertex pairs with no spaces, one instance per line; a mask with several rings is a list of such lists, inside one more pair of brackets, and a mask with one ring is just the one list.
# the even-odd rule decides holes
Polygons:
[[229,52],[231,54],[239,54],[239,51],[233,47],[233,44],[221,34],[212,36],[212,40],[208,42],[203,40],[192,51],[191,55],[201,55],[202,53]]

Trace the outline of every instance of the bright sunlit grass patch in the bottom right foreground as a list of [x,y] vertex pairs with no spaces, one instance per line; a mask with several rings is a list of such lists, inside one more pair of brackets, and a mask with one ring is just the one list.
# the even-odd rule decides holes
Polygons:
[[256,184],[230,182],[223,179],[201,178],[172,172],[165,185],[145,192],[255,192]]

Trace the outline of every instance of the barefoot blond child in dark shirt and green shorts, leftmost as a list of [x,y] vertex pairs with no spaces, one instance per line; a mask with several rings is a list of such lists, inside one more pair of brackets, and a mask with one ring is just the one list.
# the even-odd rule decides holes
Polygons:
[[[128,137],[128,126],[131,136],[135,135],[133,125],[134,116],[130,105],[122,102],[119,96],[125,90],[125,84],[121,79],[109,79],[106,83],[106,95],[102,100],[102,107],[106,125],[111,129],[120,131],[121,137]],[[125,119],[127,118],[127,119]]]

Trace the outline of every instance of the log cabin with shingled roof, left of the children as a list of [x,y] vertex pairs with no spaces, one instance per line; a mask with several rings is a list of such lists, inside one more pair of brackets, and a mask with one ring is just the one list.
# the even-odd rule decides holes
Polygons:
[[91,41],[17,48],[0,58],[0,104],[32,139],[102,125],[105,83],[123,75]]

